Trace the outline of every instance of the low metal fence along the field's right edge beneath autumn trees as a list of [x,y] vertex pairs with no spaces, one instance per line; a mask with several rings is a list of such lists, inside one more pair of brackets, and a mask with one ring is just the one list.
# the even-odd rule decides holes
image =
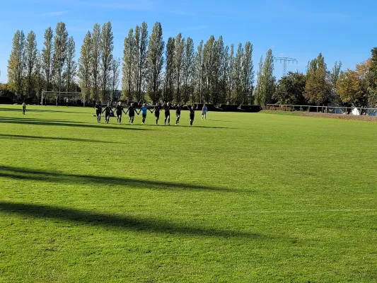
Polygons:
[[290,105],[290,104],[267,104],[267,107],[275,108],[290,108],[291,111],[303,112],[322,112],[330,114],[343,115],[370,115],[377,116],[377,108],[352,108],[342,106],[312,106],[312,105]]

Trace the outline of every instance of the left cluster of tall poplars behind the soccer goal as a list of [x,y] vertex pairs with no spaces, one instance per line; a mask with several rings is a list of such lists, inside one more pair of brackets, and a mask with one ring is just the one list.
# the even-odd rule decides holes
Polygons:
[[21,100],[40,97],[42,91],[74,92],[78,78],[86,98],[108,100],[120,81],[120,59],[112,56],[111,23],[95,24],[88,34],[76,62],[76,44],[64,23],[57,23],[55,33],[45,30],[41,51],[33,30],[26,38],[17,30],[8,60],[9,90]]

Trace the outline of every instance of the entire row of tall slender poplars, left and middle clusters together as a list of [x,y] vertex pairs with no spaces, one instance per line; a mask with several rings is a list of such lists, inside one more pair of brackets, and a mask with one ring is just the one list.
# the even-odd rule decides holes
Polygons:
[[[111,100],[122,79],[122,98],[175,103],[253,103],[255,87],[253,45],[224,45],[214,36],[196,49],[191,37],[163,40],[161,23],[130,29],[124,38],[123,58],[113,56],[111,23],[95,24],[76,47],[64,23],[45,30],[41,52],[35,33],[25,38],[18,30],[8,61],[8,85],[19,98],[39,96],[42,91],[75,91],[76,82],[86,99]],[[273,69],[273,67],[272,67]]]

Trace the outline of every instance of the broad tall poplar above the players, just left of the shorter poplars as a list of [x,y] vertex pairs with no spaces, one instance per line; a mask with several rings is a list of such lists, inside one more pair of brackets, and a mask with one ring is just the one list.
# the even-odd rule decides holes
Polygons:
[[153,25],[152,34],[149,37],[149,45],[147,52],[148,60],[148,75],[147,87],[149,97],[153,102],[156,102],[160,96],[161,86],[161,71],[163,67],[163,49],[165,42],[163,42],[163,34],[161,23]]

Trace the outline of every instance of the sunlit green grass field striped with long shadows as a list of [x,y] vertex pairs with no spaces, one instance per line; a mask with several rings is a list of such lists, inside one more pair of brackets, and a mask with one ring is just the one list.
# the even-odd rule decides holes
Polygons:
[[377,123],[208,116],[0,105],[0,282],[377,282]]

